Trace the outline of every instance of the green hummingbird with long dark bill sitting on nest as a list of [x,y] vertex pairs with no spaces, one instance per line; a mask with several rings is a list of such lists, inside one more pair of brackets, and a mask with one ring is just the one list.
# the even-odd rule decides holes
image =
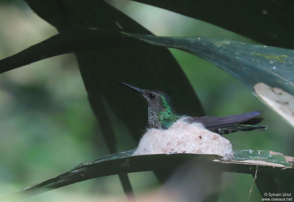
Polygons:
[[175,113],[171,99],[165,92],[144,90],[126,83],[121,84],[136,90],[146,99],[148,104],[149,128],[168,129],[181,117],[185,117],[184,120],[188,123],[201,123],[206,129],[220,135],[238,131],[265,130],[267,128],[265,125],[257,125],[263,120],[263,118],[259,117],[262,112],[261,110],[225,117],[180,115]]

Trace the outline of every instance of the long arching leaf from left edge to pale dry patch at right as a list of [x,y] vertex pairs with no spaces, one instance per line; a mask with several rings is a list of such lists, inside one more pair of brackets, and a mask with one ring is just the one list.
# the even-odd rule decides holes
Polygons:
[[[111,41],[108,46],[105,44],[107,40]],[[58,43],[59,41],[63,41],[62,45]],[[121,46],[128,46],[128,48],[147,47],[148,45],[143,42],[156,46],[177,48],[208,60],[250,87],[274,110],[294,125],[294,117],[291,114],[291,112],[294,112],[294,105],[292,104],[294,103],[294,71],[292,67],[294,50],[290,49],[210,38],[162,37],[77,29],[53,36],[18,53],[18,55],[1,60],[0,69],[2,67],[11,69],[44,57],[85,50],[85,48],[106,48],[106,46],[108,48]],[[21,58],[21,62],[18,61],[18,58]],[[22,58],[26,58],[26,60]],[[171,71],[173,70],[168,70],[169,73]],[[260,89],[263,84],[267,87]],[[267,90],[267,94],[264,95],[265,90]],[[275,95],[270,97],[268,92],[275,92]],[[174,99],[172,98],[172,100]],[[186,102],[185,99],[182,100]],[[268,100],[283,106],[275,107]],[[285,110],[281,111],[281,109]],[[186,114],[191,115],[192,113],[187,112]]]

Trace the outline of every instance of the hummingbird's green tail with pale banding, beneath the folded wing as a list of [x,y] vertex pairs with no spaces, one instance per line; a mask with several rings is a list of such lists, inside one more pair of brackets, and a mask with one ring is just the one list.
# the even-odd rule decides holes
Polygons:
[[230,134],[238,131],[252,131],[252,130],[265,130],[267,126],[265,125],[247,125],[247,124],[235,124],[227,126],[220,129],[215,129],[213,132],[216,132],[220,135]]

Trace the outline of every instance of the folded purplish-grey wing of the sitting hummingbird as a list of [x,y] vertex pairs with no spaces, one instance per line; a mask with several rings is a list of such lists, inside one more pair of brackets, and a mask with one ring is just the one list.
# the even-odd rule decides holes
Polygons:
[[208,130],[221,129],[234,124],[258,124],[263,118],[258,117],[262,111],[248,112],[245,114],[231,115],[227,117],[188,117],[189,123],[199,122]]

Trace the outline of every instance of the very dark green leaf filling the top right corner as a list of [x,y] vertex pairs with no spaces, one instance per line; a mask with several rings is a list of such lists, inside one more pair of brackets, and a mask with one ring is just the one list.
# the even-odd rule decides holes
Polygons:
[[294,49],[293,1],[133,0],[223,27],[268,46]]

